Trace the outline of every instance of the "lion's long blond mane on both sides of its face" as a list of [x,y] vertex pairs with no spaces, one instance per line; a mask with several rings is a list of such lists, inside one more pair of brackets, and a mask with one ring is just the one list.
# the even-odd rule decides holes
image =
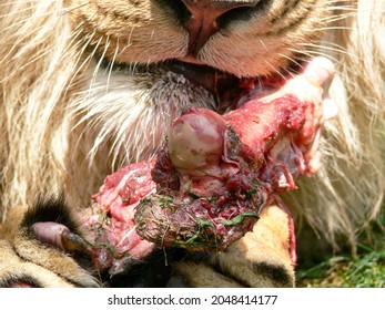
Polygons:
[[[29,204],[44,190],[92,193],[111,170],[113,158],[104,149],[108,142],[97,145],[97,133],[79,124],[81,115],[69,104],[79,100],[78,92],[90,76],[84,50],[92,37],[80,38],[68,14],[77,8],[62,0],[2,0],[0,8],[0,214],[4,218],[9,207]],[[324,130],[321,170],[283,198],[297,223],[305,220],[337,246],[338,235],[354,245],[356,232],[376,218],[385,190],[381,38],[385,3],[343,0],[335,1],[333,10],[321,46],[304,48],[312,50],[310,55],[326,55],[336,64],[331,96],[340,114]],[[99,157],[88,156],[90,149]],[[74,163],[77,172],[71,170]],[[93,178],[84,178],[90,172]],[[79,183],[71,187],[71,180],[62,184],[67,173],[83,176],[83,187]]]

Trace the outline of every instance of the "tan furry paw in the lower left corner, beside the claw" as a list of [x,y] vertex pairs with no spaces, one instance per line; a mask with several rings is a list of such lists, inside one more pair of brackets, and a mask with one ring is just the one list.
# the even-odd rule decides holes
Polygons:
[[24,207],[12,208],[8,224],[0,224],[0,287],[23,282],[26,276],[41,287],[95,287],[97,281],[71,257],[32,239],[20,228]]

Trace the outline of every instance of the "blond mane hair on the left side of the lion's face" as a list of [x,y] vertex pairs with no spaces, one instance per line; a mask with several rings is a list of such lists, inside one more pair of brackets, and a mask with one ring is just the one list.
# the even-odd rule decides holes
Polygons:
[[[4,2],[4,1],[2,1]],[[79,55],[62,1],[9,1],[0,16],[1,214],[55,190],[73,126],[65,102]],[[75,90],[75,87],[74,87]]]

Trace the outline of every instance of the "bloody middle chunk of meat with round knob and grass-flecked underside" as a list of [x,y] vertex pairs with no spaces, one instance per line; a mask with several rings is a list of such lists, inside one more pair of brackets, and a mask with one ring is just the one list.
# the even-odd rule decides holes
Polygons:
[[226,248],[306,172],[296,138],[304,123],[304,106],[291,95],[250,101],[223,116],[185,113],[158,155],[156,193],[136,207],[138,234],[165,247]]

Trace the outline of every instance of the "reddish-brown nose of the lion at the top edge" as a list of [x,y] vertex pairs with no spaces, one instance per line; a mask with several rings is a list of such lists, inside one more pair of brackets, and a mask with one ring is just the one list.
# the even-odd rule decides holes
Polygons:
[[196,55],[219,29],[217,18],[241,7],[255,7],[260,0],[182,0],[191,16],[184,22],[189,32],[189,54]]

